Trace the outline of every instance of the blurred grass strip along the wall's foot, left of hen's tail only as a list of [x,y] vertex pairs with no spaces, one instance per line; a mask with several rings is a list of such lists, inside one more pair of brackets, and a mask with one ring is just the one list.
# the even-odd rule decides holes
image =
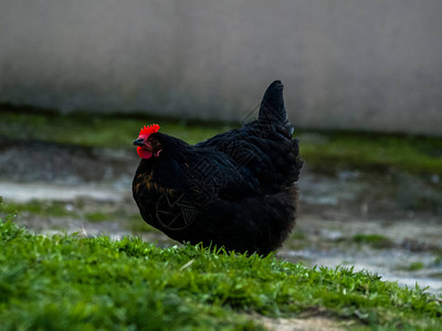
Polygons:
[[232,127],[227,125],[187,125],[162,118],[134,116],[91,116],[20,113],[0,109],[0,137],[39,139],[84,147],[133,148],[145,125],[159,122],[161,132],[170,134],[190,143],[208,139]]

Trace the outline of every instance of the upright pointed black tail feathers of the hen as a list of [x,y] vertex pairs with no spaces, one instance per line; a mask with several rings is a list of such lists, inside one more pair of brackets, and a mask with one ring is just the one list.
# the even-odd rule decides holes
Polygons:
[[261,102],[259,120],[270,124],[287,122],[287,113],[284,107],[284,85],[281,81],[274,81],[265,90]]

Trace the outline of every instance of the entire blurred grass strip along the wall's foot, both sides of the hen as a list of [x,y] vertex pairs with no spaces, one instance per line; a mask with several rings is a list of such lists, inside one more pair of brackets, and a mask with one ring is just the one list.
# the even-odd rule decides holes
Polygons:
[[[196,143],[233,128],[222,124],[189,124],[161,117],[86,113],[22,111],[0,108],[0,137],[40,139],[85,147],[131,148],[144,125],[158,122],[161,132]],[[442,175],[442,138],[357,131],[296,130],[301,154],[317,171],[399,169]]]

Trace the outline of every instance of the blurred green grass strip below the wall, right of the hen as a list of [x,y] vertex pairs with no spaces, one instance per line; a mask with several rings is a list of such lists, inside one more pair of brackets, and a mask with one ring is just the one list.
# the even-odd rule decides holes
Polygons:
[[441,137],[355,131],[304,134],[302,154],[318,171],[393,168],[413,174],[442,174]]

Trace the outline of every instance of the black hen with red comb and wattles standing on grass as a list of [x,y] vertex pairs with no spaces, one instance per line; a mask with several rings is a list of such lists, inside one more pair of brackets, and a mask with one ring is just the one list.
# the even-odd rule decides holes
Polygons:
[[290,235],[303,161],[273,82],[257,120],[197,145],[144,127],[133,195],[143,218],[170,238],[267,255]]

